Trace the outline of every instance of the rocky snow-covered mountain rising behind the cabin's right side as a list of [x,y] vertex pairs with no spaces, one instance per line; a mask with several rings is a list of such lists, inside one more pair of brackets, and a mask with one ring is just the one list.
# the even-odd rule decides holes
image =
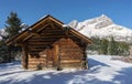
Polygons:
[[87,36],[99,36],[107,39],[114,36],[117,41],[132,42],[132,30],[116,24],[105,14],[98,18],[85,20],[82,22],[74,20],[68,25]]

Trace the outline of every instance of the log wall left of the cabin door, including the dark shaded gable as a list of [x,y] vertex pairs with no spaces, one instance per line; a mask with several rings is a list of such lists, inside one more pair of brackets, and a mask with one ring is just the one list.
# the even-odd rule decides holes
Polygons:
[[[41,64],[42,69],[54,67],[54,48],[52,44],[65,35],[61,29],[46,28],[34,35],[26,42],[29,44],[29,69],[37,70]],[[42,53],[42,54],[40,54]]]

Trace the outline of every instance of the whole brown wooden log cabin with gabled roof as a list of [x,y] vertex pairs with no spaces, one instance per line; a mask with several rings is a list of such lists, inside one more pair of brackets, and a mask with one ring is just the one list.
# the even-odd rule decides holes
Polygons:
[[25,70],[88,69],[86,48],[90,43],[89,38],[50,14],[7,41],[22,48]]

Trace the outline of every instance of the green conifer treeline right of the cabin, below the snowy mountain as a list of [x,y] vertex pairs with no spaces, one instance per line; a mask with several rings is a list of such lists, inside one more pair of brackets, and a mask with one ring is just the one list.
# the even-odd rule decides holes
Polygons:
[[92,36],[92,44],[88,45],[89,51],[96,51],[98,54],[105,55],[130,55],[130,43],[116,41],[113,36],[110,39],[100,39],[98,36]]

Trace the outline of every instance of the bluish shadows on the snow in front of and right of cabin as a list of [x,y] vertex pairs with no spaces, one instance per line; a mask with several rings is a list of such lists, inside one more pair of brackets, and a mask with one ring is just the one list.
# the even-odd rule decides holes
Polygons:
[[[112,81],[100,81],[95,77],[95,75],[99,70],[98,65],[100,66],[108,66],[105,63],[98,62],[94,59],[88,59],[89,70],[76,71],[76,72],[48,72],[37,74],[34,73],[32,77],[28,77],[24,80],[14,80],[15,75],[8,77],[8,80],[0,81],[0,84],[116,84],[116,82],[120,84],[131,84],[132,80],[132,67],[125,67],[121,71],[117,71],[118,75],[114,75]],[[97,66],[97,67],[95,67]],[[95,67],[95,69],[92,69]],[[92,69],[92,70],[90,70]],[[0,77],[4,75],[11,75],[19,73],[23,73],[24,71],[11,72],[1,74]],[[25,71],[26,72],[26,71]],[[35,72],[35,71],[33,71]],[[108,73],[110,74],[110,73]],[[25,74],[26,75],[26,74]],[[24,76],[24,75],[23,75]]]

